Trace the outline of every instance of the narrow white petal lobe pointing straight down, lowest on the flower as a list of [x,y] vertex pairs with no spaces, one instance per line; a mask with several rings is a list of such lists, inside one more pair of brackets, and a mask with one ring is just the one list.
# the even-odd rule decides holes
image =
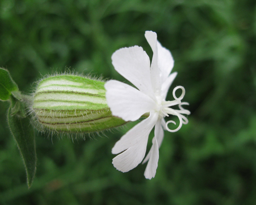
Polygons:
[[148,160],[148,164],[146,167],[146,170],[144,172],[144,176],[147,179],[151,179],[153,177],[155,177],[156,175],[156,168],[157,168],[157,164],[158,164],[158,158],[159,158],[159,151],[158,151],[158,144],[156,141],[156,138],[154,138],[154,143],[152,145],[152,151]]

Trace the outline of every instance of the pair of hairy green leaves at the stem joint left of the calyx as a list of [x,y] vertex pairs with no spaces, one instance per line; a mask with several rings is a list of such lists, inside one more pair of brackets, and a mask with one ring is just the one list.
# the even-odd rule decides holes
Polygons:
[[30,126],[30,117],[26,116],[25,101],[22,100],[17,84],[12,80],[9,71],[3,68],[0,68],[0,99],[10,101],[7,120],[24,161],[28,187],[30,187],[36,173],[34,129]]

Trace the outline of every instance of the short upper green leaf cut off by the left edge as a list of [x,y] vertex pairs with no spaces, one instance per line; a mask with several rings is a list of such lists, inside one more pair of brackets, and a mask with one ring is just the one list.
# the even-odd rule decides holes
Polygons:
[[8,70],[0,68],[0,100],[8,100],[13,91],[17,91],[18,86],[12,80]]

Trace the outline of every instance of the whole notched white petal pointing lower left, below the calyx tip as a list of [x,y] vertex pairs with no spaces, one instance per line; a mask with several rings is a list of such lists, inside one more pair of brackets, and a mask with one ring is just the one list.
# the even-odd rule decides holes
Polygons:
[[112,149],[112,153],[116,153],[116,150],[119,152],[123,150],[123,148],[127,148],[126,143],[131,145],[127,150],[113,158],[112,164],[117,170],[128,172],[140,164],[146,153],[148,135],[154,127],[157,117],[157,113],[150,115],[147,119],[132,128],[116,143]]

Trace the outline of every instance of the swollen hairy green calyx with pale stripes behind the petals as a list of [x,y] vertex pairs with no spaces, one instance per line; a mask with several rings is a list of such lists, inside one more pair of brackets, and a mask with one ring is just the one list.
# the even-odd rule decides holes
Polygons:
[[104,84],[76,75],[43,79],[33,96],[37,127],[41,131],[88,133],[125,124],[112,116]]

